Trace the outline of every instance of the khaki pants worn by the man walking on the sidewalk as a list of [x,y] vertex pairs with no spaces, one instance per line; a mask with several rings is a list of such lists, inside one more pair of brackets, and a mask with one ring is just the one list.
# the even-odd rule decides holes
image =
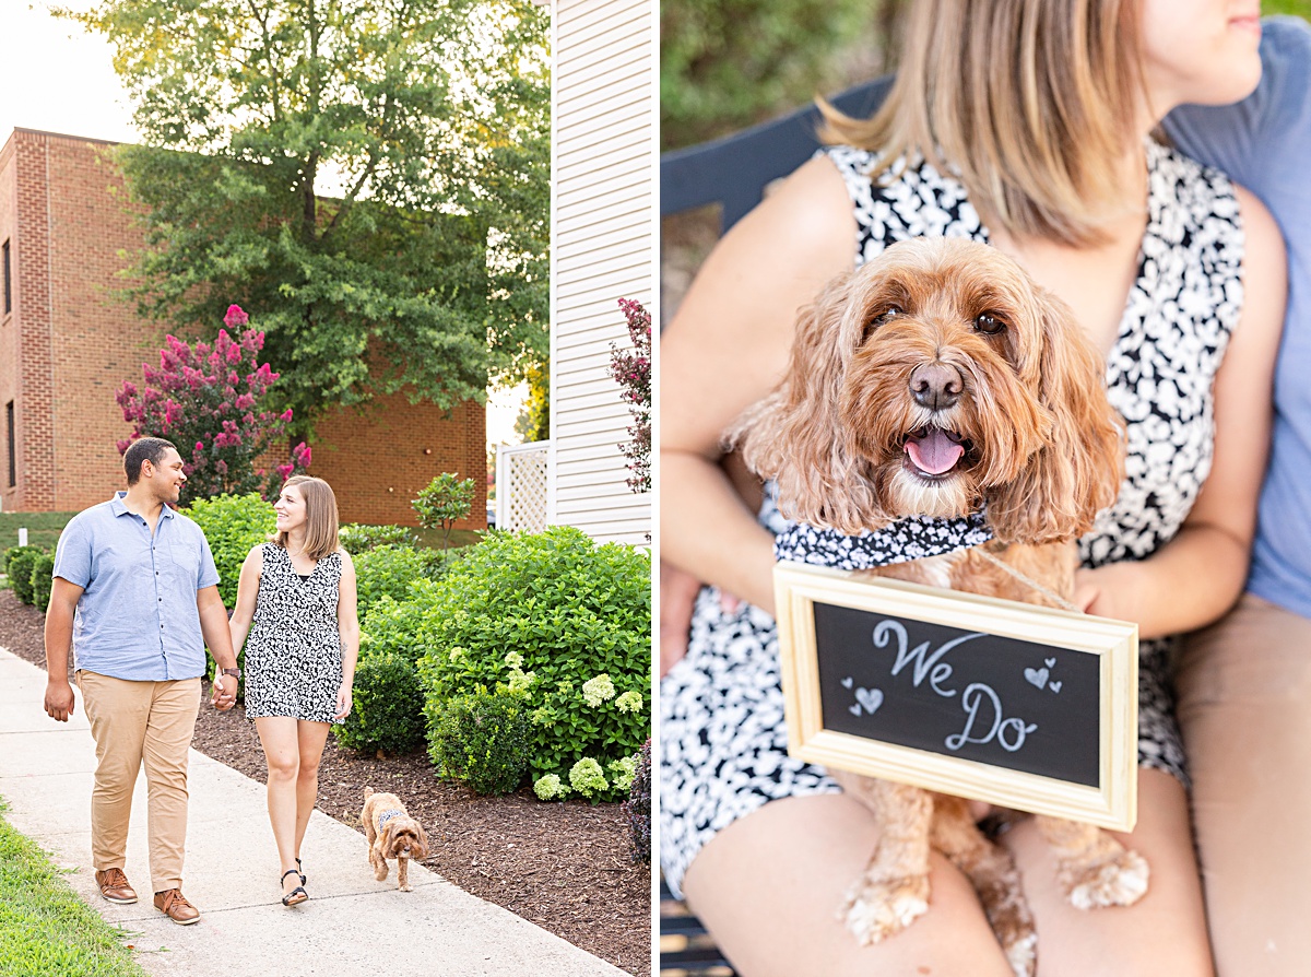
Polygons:
[[127,682],[79,671],[77,686],[96,741],[92,862],[100,871],[123,867],[132,789],[144,762],[151,885],[153,892],[182,888],[186,759],[201,704],[201,679]]

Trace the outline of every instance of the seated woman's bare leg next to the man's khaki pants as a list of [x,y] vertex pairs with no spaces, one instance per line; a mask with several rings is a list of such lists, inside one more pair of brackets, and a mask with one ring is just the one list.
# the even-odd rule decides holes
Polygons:
[[1038,977],[1210,977],[1183,784],[1159,770],[1139,768],[1138,825],[1116,837],[1147,859],[1147,894],[1133,906],[1084,910],[1058,889],[1055,859],[1032,818],[1004,835],[1038,930]]

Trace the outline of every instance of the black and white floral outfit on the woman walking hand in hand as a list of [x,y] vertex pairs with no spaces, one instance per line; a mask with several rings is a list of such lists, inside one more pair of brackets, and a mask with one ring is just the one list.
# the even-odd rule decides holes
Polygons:
[[275,543],[265,543],[262,556],[254,623],[246,637],[246,717],[332,723],[341,688],[341,553],[319,560],[305,578]]

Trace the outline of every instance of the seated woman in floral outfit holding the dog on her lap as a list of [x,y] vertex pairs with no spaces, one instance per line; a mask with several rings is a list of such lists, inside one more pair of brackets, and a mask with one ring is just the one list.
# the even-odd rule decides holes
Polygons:
[[969,884],[936,855],[932,904],[907,930],[861,947],[838,921],[880,826],[784,755],[772,532],[717,464],[724,429],[781,378],[794,311],[853,257],[919,235],[988,241],[1061,295],[1106,353],[1129,424],[1129,477],[1082,540],[1078,598],[1143,639],[1139,820],[1125,842],[1151,887],[1129,909],[1075,910],[1032,822],[1004,835],[1040,973],[1213,972],[1167,648],[1151,639],[1214,620],[1242,590],[1283,253],[1256,198],[1150,134],[1175,105],[1256,85],[1255,4],[1231,7],[920,0],[880,114],[832,119],[847,146],[725,236],[666,330],[662,556],[749,603],[728,612],[703,593],[688,656],[663,682],[662,862],[743,974],[1011,973]]

